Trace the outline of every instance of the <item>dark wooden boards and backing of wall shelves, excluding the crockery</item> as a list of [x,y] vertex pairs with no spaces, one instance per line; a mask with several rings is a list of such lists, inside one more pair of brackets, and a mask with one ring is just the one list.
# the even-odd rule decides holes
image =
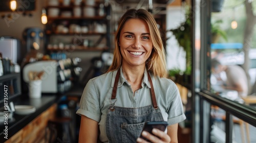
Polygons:
[[[48,14],[48,23],[46,26],[46,35],[48,37],[48,46],[47,46],[47,50],[49,52],[72,52],[72,51],[104,51],[104,50],[108,50],[108,48],[110,47],[110,19],[107,18],[108,15],[110,15],[110,13],[108,12],[110,10],[110,6],[108,7],[101,7],[103,3],[99,3],[96,2],[95,5],[93,6],[89,6],[86,5],[86,3],[81,3],[81,5],[79,6],[75,6],[73,2],[70,3],[70,5],[65,6],[63,5],[63,3],[59,3],[59,5],[57,6],[47,6],[46,9],[47,11],[50,10],[51,8],[55,8],[58,9],[58,14],[55,15],[49,15]],[[75,7],[79,7],[81,8],[81,16],[74,16],[74,8]],[[87,13],[84,14],[84,8],[86,7],[91,7],[94,8],[95,11],[98,10],[102,10],[104,9],[104,15],[99,15],[95,14],[95,15],[87,15]],[[65,15],[65,13],[68,11],[69,14],[67,14],[67,16]],[[71,12],[71,14],[70,14]],[[54,13],[53,13],[54,14]],[[88,29],[90,29],[90,32],[87,33],[82,33],[82,31],[75,31],[73,30],[72,27],[72,33],[70,33],[70,26],[72,24],[78,25],[81,27],[82,30],[82,26],[88,26]],[[93,26],[94,23],[98,24],[104,24],[106,29],[105,30],[101,30],[99,32],[94,31],[91,29],[90,26]],[[57,28],[59,25],[63,25],[66,29],[65,29],[65,33],[62,32],[62,30],[58,30]],[[68,30],[67,30],[68,28]],[[104,26],[102,27],[104,28]],[[92,31],[91,31],[92,30]],[[86,32],[86,31],[84,31]],[[75,37],[78,36],[78,37]],[[56,38],[56,40],[55,40]],[[81,38],[81,40],[88,38],[90,41],[92,41],[92,44],[88,44],[92,47],[85,47],[85,46],[77,46],[77,45],[81,45],[79,41],[79,43],[74,43],[75,41],[73,41],[72,39],[74,38]],[[71,44],[71,46],[58,46],[59,44],[53,44],[53,43],[63,43],[63,40],[68,40]],[[71,41],[72,40],[72,41]],[[72,42],[74,44],[72,44]],[[66,43],[66,42],[65,42]],[[52,45],[52,46],[51,46]],[[95,45],[95,46],[94,46]],[[102,47],[102,46],[103,47]],[[49,47],[49,48],[48,48]],[[67,48],[66,48],[67,47]]]

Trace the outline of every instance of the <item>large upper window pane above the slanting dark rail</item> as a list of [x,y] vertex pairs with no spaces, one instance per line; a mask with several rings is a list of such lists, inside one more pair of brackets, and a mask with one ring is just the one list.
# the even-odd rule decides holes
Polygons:
[[218,2],[212,4],[210,18],[211,92],[241,104],[256,104],[256,2]]

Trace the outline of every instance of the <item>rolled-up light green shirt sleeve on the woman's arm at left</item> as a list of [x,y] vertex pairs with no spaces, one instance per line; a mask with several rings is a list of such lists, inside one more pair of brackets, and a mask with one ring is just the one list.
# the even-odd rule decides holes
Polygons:
[[99,122],[101,116],[99,101],[99,93],[93,79],[91,79],[83,89],[79,109],[76,111],[76,113],[78,115],[87,116],[92,120]]

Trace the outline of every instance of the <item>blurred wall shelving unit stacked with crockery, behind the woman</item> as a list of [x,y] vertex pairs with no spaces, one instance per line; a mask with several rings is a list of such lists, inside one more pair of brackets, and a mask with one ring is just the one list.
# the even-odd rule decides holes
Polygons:
[[[47,52],[110,50],[110,6],[102,5],[95,3],[88,6],[81,3],[75,6],[71,3],[63,6],[60,3],[58,6],[47,6]],[[79,9],[79,14],[75,14],[75,8]],[[87,13],[86,8],[95,13]],[[51,13],[53,9],[58,13]]]

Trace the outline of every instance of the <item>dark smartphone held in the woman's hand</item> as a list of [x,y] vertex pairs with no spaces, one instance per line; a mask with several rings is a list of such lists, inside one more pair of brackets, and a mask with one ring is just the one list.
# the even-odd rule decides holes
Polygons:
[[[153,128],[159,129],[161,131],[165,131],[167,126],[168,126],[167,122],[146,122],[142,131],[147,131],[152,134]],[[142,131],[141,131],[141,133],[142,133]],[[141,134],[140,134],[140,138],[143,138],[144,140],[148,141]]]

